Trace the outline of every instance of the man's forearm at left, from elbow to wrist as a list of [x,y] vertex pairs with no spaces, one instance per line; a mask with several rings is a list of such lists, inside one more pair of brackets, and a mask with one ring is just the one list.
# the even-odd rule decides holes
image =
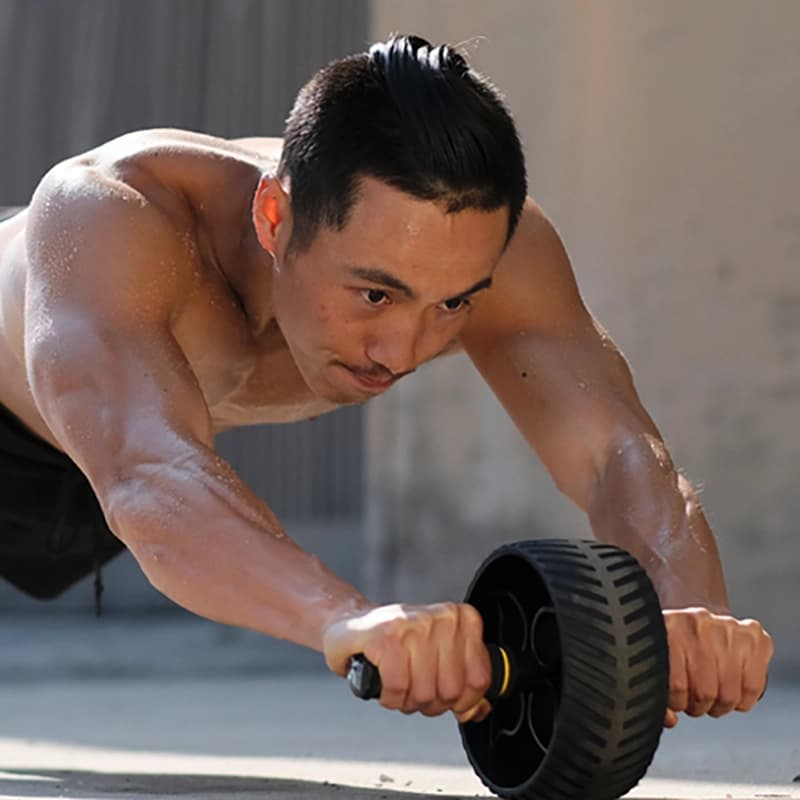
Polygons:
[[321,651],[333,619],[370,604],[292,541],[229,464],[192,451],[117,484],[107,511],[114,532],[179,605]]

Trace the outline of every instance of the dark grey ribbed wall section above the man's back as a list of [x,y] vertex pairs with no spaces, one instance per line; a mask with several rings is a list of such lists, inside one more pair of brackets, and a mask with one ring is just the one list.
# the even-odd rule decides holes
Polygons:
[[368,35],[367,0],[0,0],[0,205],[137,128],[280,135],[297,89]]

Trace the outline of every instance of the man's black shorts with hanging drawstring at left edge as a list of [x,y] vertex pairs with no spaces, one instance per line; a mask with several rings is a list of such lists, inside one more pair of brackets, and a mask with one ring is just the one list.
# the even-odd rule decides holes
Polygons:
[[0,578],[49,599],[125,549],[89,481],[0,405]]

